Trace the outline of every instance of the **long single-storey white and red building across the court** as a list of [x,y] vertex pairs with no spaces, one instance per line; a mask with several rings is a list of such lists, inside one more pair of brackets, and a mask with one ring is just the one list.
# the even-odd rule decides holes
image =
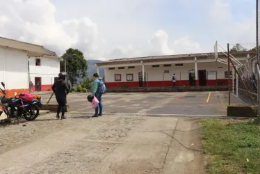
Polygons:
[[[254,55],[250,51],[232,54],[241,63]],[[218,58],[227,61],[222,52]],[[229,74],[227,65],[218,62],[214,53],[120,58],[96,66],[97,71],[104,68],[108,88],[170,87],[173,74],[175,86],[222,86],[228,84]]]

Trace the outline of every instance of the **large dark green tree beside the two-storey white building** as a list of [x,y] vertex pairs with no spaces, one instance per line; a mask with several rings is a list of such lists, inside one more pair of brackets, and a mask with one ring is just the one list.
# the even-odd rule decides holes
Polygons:
[[[63,54],[63,60],[67,58],[67,74],[72,86],[76,84],[76,78],[87,77],[88,63],[79,49],[67,49]],[[60,62],[60,71],[65,70],[64,61]]]

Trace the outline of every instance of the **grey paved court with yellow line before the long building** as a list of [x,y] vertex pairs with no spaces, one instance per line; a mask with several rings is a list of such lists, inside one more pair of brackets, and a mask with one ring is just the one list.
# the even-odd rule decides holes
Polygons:
[[[70,111],[93,113],[87,101],[88,93],[71,93],[67,97]],[[43,104],[50,94],[44,94]],[[104,114],[146,116],[225,116],[228,104],[227,92],[184,92],[184,93],[106,93],[102,97]],[[55,96],[50,104],[56,104]],[[231,95],[231,104],[241,100]]]

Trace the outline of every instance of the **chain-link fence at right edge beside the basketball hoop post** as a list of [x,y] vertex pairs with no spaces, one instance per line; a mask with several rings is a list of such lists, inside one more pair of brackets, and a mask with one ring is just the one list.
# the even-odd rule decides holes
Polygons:
[[230,70],[234,73],[231,74],[234,76],[234,81],[230,83],[234,86],[234,93],[233,90],[231,92],[246,104],[257,104],[257,45],[255,43],[229,44],[228,58]]

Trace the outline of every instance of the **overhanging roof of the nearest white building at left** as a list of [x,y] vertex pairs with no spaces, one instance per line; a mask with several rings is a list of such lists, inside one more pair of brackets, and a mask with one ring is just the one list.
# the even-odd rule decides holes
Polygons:
[[28,56],[56,56],[55,52],[51,52],[41,45],[35,45],[8,38],[0,37],[0,46],[24,50],[28,52]]

